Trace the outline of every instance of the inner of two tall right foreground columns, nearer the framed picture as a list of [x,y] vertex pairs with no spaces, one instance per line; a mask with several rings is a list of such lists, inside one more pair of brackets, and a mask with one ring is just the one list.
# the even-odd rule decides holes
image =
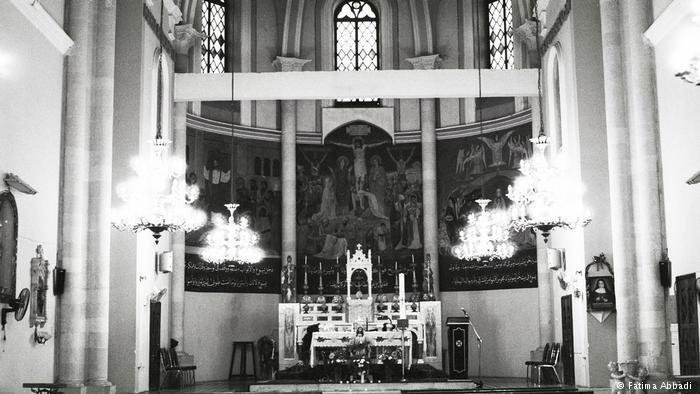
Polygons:
[[635,265],[630,173],[630,129],[625,105],[620,9],[617,0],[600,1],[600,24],[605,77],[605,117],[610,173],[610,221],[615,267],[617,361],[636,360],[637,270]]

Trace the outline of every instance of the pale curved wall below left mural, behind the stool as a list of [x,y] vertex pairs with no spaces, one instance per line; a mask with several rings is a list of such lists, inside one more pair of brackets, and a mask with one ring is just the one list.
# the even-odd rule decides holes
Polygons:
[[194,355],[197,380],[228,379],[233,341],[277,340],[278,303],[277,294],[186,292],[184,349]]

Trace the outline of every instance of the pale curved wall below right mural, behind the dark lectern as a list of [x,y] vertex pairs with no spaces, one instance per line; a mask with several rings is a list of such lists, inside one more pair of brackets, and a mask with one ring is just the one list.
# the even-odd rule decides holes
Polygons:
[[[537,289],[460,291],[440,293],[442,301],[442,343],[446,347],[444,321],[462,316],[464,308],[484,340],[482,376],[524,377],[525,361],[539,345]],[[469,339],[469,376],[477,376],[477,347]]]

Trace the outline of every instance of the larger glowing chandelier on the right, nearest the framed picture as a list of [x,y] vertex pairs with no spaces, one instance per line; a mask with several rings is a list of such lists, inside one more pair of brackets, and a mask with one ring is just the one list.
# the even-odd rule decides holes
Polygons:
[[[537,229],[544,241],[558,227],[573,229],[590,223],[590,215],[581,203],[583,185],[567,176],[561,165],[551,165],[545,156],[549,139],[542,131],[530,141],[535,146],[532,158],[521,161],[518,177],[508,186],[512,207],[511,228],[515,231]],[[560,158],[561,159],[561,158]]]

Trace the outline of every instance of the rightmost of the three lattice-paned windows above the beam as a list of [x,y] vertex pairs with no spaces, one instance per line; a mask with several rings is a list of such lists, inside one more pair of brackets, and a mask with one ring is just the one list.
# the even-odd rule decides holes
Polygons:
[[491,68],[513,68],[513,4],[512,0],[490,0],[489,59]]

